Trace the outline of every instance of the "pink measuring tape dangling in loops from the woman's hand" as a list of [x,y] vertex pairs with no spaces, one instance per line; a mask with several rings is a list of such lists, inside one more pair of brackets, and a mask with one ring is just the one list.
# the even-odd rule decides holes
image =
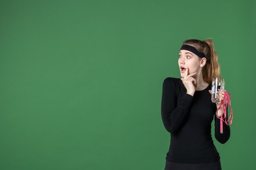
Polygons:
[[[223,122],[222,121],[224,121],[227,125],[232,124],[233,111],[232,111],[232,108],[230,106],[230,103],[231,103],[230,94],[227,93],[226,91],[224,91],[224,100],[221,100],[220,107],[216,110],[216,117],[218,119],[220,119],[220,133],[223,133],[223,124],[222,124]],[[229,105],[229,108],[231,110],[231,113],[230,113],[230,116],[229,116],[229,119],[231,118],[230,124],[228,123],[229,119],[228,120],[225,119],[226,116],[227,116],[227,104]],[[221,113],[221,116],[218,117],[217,113],[218,113],[218,110],[221,108],[221,106],[223,106],[222,113]]]

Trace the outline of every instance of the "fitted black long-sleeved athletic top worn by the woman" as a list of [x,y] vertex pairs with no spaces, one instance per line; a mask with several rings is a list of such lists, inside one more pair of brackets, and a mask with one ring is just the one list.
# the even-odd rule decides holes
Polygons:
[[[211,137],[215,121],[215,138],[224,144],[230,128],[216,117],[216,104],[211,102],[211,84],[193,96],[186,94],[180,78],[167,77],[163,82],[161,115],[164,127],[171,133],[166,160],[176,163],[210,163],[220,159]],[[227,115],[228,116],[228,115]]]

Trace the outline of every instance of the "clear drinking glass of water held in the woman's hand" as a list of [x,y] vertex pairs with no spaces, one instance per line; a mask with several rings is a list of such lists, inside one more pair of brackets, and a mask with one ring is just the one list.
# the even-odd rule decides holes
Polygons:
[[220,103],[221,99],[218,99],[218,89],[224,89],[224,78],[213,78],[211,86],[211,102]]

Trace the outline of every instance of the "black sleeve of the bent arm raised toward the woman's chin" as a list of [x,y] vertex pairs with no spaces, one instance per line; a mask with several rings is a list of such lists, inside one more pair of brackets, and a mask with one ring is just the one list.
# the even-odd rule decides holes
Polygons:
[[177,104],[175,85],[170,77],[164,79],[162,89],[161,115],[164,127],[170,133],[177,132],[189,114],[193,96],[184,94],[180,103]]

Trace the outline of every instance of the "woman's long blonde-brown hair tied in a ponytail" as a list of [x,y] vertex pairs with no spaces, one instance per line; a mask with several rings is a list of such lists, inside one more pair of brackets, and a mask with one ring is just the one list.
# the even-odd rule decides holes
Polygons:
[[214,49],[213,41],[211,39],[190,39],[185,40],[182,44],[192,45],[206,56],[206,64],[202,68],[203,79],[205,82],[211,84],[214,77],[221,77],[218,55]]

